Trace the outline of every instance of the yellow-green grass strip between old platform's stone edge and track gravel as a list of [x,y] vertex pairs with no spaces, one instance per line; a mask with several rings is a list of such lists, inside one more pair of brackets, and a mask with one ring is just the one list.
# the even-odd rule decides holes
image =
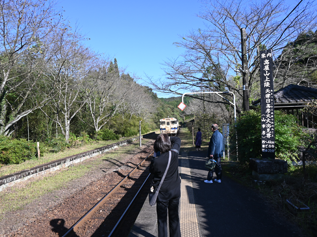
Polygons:
[[[145,143],[148,142],[144,139]],[[109,160],[117,167],[122,165],[121,159],[125,158],[126,154],[135,153],[142,150],[137,142],[129,146],[121,147],[120,149],[112,152],[105,153],[102,156],[93,160],[86,160],[82,163],[62,168],[58,172],[50,173],[47,176],[39,177],[34,181],[29,182],[23,188],[14,188],[7,192],[0,193],[0,221],[4,218],[4,214],[8,211],[23,210],[27,204],[34,202],[40,197],[52,193],[60,189],[68,189],[71,182],[75,182],[84,175],[88,175],[93,169],[100,169],[106,165]],[[107,166],[107,165],[106,165]],[[60,197],[55,196],[56,200]],[[54,200],[52,200],[54,201]]]

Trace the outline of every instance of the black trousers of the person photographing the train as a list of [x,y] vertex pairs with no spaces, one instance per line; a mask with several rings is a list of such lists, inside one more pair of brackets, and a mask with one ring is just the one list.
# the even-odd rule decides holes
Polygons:
[[169,224],[169,236],[181,237],[178,207],[181,197],[181,187],[168,192],[159,192],[157,199],[158,213],[158,237],[167,237],[167,212]]

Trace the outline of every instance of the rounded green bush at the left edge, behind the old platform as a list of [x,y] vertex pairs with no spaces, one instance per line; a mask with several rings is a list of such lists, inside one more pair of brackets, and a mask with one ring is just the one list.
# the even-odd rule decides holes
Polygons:
[[26,139],[10,139],[0,136],[0,163],[19,164],[25,160],[36,158],[37,145]]

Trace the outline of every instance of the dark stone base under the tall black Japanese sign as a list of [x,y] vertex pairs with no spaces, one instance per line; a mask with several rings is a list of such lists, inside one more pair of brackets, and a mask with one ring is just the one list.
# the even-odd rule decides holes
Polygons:
[[256,180],[269,181],[281,179],[287,172],[287,162],[282,159],[250,159],[252,176]]

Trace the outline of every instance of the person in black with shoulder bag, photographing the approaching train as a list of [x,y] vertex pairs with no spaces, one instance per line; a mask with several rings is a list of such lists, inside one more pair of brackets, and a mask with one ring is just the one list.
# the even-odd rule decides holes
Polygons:
[[169,157],[168,152],[172,149],[170,165],[157,198],[158,237],[167,237],[167,210],[169,236],[181,236],[178,215],[179,199],[181,197],[181,179],[178,173],[178,153],[180,147],[181,139],[178,137],[168,137],[166,133],[159,134],[154,145],[155,152],[159,151],[161,154],[159,157],[153,158],[150,165],[150,172],[154,174],[152,186],[155,190],[166,170]]

